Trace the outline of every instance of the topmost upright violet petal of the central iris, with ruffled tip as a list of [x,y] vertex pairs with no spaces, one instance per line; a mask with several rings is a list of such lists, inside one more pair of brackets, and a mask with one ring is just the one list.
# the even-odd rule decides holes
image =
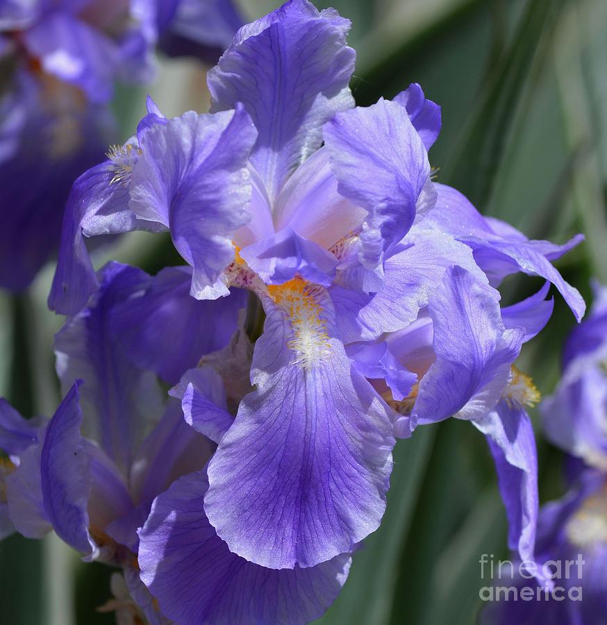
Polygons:
[[290,0],[244,26],[207,75],[211,110],[242,102],[251,115],[259,132],[251,160],[272,202],[322,144],[322,124],[354,106],[349,27],[332,9]]

